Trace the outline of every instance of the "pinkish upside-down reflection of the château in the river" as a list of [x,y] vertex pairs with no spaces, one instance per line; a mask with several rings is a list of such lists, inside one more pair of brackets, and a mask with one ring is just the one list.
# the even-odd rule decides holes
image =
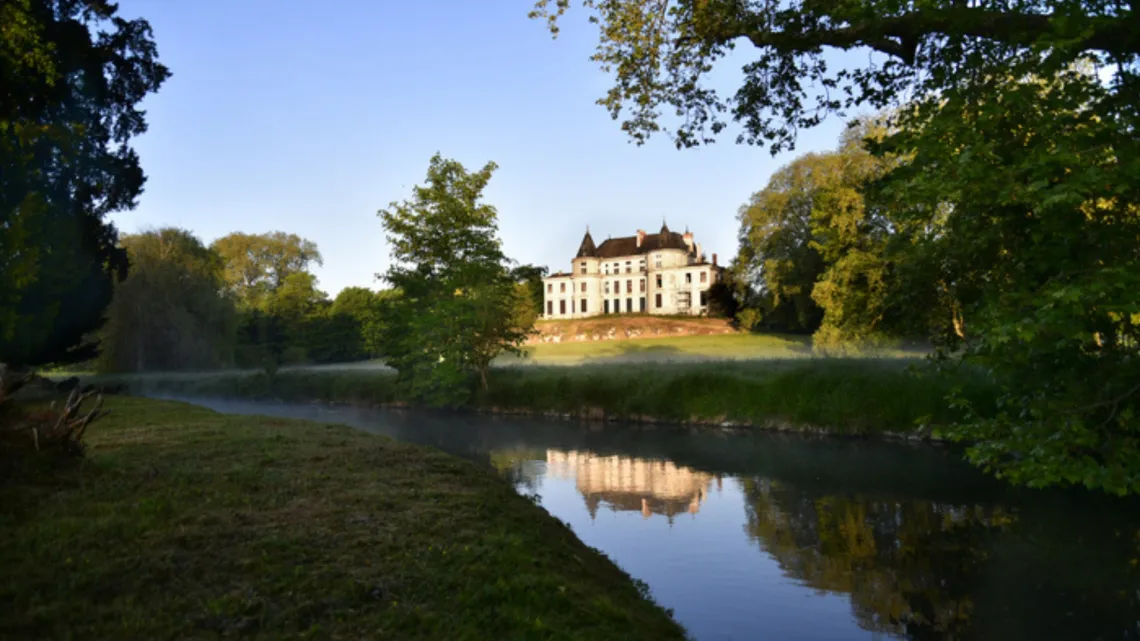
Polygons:
[[578,492],[586,498],[591,518],[602,503],[614,511],[640,511],[646,519],[683,512],[695,514],[709,486],[720,477],[675,465],[669,461],[649,461],[629,456],[598,456],[589,452],[546,451],[546,473],[554,478],[575,477]]

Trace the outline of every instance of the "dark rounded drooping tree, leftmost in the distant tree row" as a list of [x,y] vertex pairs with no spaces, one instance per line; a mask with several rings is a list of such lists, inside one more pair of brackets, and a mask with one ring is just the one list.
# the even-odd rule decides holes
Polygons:
[[119,283],[100,335],[104,372],[229,365],[236,310],[223,294],[221,257],[184,229],[123,236],[130,276]]

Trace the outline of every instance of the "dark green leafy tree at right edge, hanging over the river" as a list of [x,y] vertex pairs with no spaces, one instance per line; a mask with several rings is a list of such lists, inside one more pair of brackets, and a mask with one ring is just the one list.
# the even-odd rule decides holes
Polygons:
[[1002,389],[948,433],[1016,482],[1140,492],[1140,144],[1116,105],[1080,68],[988,78],[888,141],[915,149],[883,186],[907,248],[943,267],[914,279],[956,303],[939,343]]

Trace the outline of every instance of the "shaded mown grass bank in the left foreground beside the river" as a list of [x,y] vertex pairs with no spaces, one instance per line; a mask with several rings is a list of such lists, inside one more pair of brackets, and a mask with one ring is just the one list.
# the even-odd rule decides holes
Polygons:
[[343,427],[108,406],[79,464],[6,464],[0,638],[683,636],[472,463]]

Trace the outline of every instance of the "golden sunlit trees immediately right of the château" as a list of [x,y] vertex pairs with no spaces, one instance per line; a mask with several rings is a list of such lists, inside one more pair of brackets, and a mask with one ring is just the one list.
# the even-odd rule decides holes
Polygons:
[[743,328],[813,334],[830,349],[961,332],[947,301],[928,291],[937,278],[906,274],[917,261],[901,251],[905,229],[873,200],[876,182],[903,164],[871,152],[886,135],[873,119],[855,123],[836,151],[782,167],[740,209],[731,273]]

